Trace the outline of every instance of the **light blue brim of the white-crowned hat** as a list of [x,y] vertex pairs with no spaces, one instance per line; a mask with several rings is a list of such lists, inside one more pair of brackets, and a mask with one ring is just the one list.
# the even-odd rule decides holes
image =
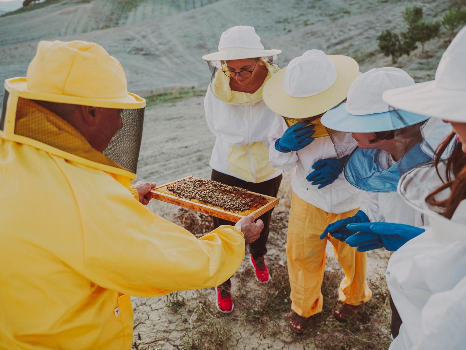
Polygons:
[[346,112],[346,102],[326,112],[321,119],[324,126],[345,133],[377,133],[402,129],[429,119],[428,116],[393,110],[382,113],[354,115]]

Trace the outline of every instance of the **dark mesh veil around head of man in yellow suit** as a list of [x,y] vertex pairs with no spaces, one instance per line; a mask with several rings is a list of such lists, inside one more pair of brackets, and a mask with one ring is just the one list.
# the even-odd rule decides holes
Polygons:
[[[103,122],[89,129],[87,125],[81,127],[84,117],[80,114],[83,112],[79,107],[80,105],[20,97],[16,106],[14,134],[40,141],[89,161],[136,174],[144,108],[96,107],[96,113],[105,113],[100,114]],[[3,110],[5,109],[6,101],[3,104]],[[2,123],[4,113],[2,112]]]

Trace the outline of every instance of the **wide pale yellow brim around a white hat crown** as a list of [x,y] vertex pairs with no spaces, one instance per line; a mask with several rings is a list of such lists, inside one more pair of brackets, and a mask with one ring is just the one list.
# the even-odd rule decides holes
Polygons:
[[[349,56],[327,55],[336,69],[336,81],[327,90],[309,97],[293,97],[284,89],[287,67],[275,73],[264,86],[262,98],[273,112],[287,118],[308,118],[327,112],[347,96],[359,75],[359,65]],[[313,84],[313,82],[309,82]]]

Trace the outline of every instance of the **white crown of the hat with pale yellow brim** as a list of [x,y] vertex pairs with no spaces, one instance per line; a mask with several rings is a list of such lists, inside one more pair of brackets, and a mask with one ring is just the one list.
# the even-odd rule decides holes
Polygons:
[[335,84],[336,69],[322,50],[308,50],[290,61],[284,77],[284,90],[292,97],[317,95]]

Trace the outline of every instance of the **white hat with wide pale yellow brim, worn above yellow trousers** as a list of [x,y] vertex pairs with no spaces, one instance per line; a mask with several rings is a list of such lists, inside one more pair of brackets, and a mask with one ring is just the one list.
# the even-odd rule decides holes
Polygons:
[[343,102],[358,75],[351,57],[308,50],[268,79],[262,97],[282,117],[313,117]]

